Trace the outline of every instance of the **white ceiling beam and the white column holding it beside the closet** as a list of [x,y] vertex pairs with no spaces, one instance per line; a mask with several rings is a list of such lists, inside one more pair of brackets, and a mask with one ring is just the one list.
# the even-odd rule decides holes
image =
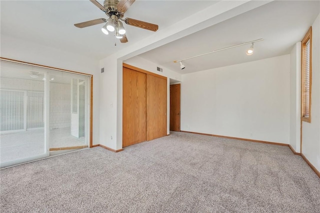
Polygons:
[[[145,64],[143,65],[141,62],[136,62],[132,57],[234,17],[267,2],[268,1],[219,1],[166,28],[159,29],[157,32],[154,32],[152,36],[146,37],[136,43],[128,42],[126,48],[101,59],[99,61],[99,68],[104,67],[105,73],[99,75],[99,100],[101,101],[99,110],[100,144],[112,149],[120,149],[122,147],[122,60],[126,60],[129,64],[135,64],[130,65],[152,71],[145,68]],[[206,15],[199,15],[202,13]],[[133,60],[135,62],[133,62]],[[141,61],[141,58],[138,59],[138,61]],[[149,64],[149,61],[147,64]],[[174,76],[170,78],[175,79]]]

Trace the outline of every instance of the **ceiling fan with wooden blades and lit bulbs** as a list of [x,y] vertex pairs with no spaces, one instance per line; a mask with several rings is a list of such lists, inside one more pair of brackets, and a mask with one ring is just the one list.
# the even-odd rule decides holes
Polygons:
[[92,26],[99,23],[105,23],[101,28],[104,34],[109,34],[109,32],[115,31],[115,37],[119,38],[121,43],[128,41],[125,35],[125,29],[121,22],[124,21],[126,24],[137,26],[143,29],[148,29],[151,31],[156,31],[158,29],[157,24],[144,22],[141,20],[136,20],[133,18],[124,18],[124,12],[131,6],[135,0],[104,0],[103,6],[96,0],[90,0],[94,5],[101,9],[108,18],[98,18],[94,20],[84,21],[81,23],[75,23],[74,26],[83,28],[87,26]]

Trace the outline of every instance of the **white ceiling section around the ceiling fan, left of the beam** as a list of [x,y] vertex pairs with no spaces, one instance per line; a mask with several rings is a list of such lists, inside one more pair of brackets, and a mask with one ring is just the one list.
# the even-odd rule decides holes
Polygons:
[[[103,5],[103,0],[98,0]],[[136,0],[125,12],[130,17],[159,25],[159,30],[217,1]],[[82,52],[101,59],[155,32],[126,25],[127,43],[101,31],[103,23],[77,28],[73,24],[107,15],[89,0],[0,0],[1,34]]]

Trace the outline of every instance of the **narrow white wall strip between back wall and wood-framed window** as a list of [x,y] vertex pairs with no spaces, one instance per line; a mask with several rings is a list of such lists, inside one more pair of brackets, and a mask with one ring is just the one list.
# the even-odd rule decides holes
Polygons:
[[290,145],[300,152],[301,42],[290,52]]

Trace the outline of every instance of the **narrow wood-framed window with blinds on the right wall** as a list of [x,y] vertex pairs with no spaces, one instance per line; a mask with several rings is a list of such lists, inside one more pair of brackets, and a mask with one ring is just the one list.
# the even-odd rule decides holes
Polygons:
[[312,28],[301,41],[301,120],[311,122],[311,48]]

